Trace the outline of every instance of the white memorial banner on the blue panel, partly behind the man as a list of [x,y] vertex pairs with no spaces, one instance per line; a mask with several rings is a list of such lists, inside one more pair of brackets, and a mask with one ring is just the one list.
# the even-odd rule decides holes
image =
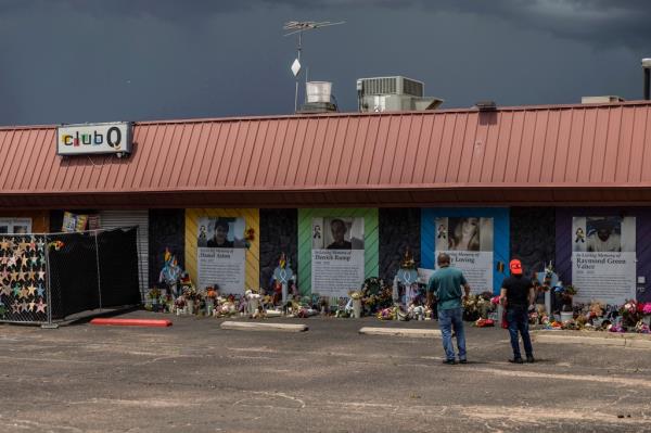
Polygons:
[[450,256],[473,293],[493,292],[493,218],[442,217],[435,224],[436,255]]

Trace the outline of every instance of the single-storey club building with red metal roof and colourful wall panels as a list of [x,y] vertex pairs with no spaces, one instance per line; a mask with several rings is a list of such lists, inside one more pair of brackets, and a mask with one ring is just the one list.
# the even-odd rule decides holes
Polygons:
[[[407,246],[423,268],[437,252],[467,252],[472,269],[483,264],[477,289],[499,290],[500,264],[513,256],[527,271],[554,262],[564,281],[597,284],[576,268],[576,254],[596,253],[588,250],[610,221],[609,242],[616,237],[620,246],[607,252],[633,256],[595,275],[628,269],[611,297],[648,298],[650,111],[651,102],[634,101],[139,122],[125,157],[61,155],[56,126],[3,127],[0,230],[28,221],[34,232],[60,231],[64,211],[99,215],[103,227],[139,224],[144,288],[156,283],[166,247],[205,286],[202,272],[218,266],[202,264],[202,240],[230,218],[229,237],[248,233],[242,293],[267,286],[285,252],[298,290],[319,285],[321,295],[330,290],[323,281],[347,272],[315,258],[327,250],[317,242],[323,235],[348,245],[350,257],[355,245],[362,251],[349,259],[356,277],[331,284],[328,295],[339,296],[360,276],[393,279]],[[345,239],[335,239],[339,227]],[[473,230],[485,234],[463,247],[452,242]],[[229,242],[238,241],[243,233]],[[583,290],[586,297],[608,289]]]

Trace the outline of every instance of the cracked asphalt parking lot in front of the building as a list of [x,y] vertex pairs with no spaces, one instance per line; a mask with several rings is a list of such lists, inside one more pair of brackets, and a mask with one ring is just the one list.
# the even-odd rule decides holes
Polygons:
[[438,339],[360,335],[373,318],[304,333],[0,326],[1,432],[651,431],[651,351],[534,343],[507,362],[501,329],[467,328],[468,365]]

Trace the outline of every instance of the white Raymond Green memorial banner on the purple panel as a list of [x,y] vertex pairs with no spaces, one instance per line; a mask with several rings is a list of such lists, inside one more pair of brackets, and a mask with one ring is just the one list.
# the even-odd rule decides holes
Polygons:
[[572,218],[572,283],[578,302],[635,300],[635,217]]

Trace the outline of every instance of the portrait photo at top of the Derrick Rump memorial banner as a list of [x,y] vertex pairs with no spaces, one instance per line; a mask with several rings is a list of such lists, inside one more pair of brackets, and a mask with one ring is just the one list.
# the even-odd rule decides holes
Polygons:
[[312,250],[363,250],[363,218],[312,218],[311,240]]

